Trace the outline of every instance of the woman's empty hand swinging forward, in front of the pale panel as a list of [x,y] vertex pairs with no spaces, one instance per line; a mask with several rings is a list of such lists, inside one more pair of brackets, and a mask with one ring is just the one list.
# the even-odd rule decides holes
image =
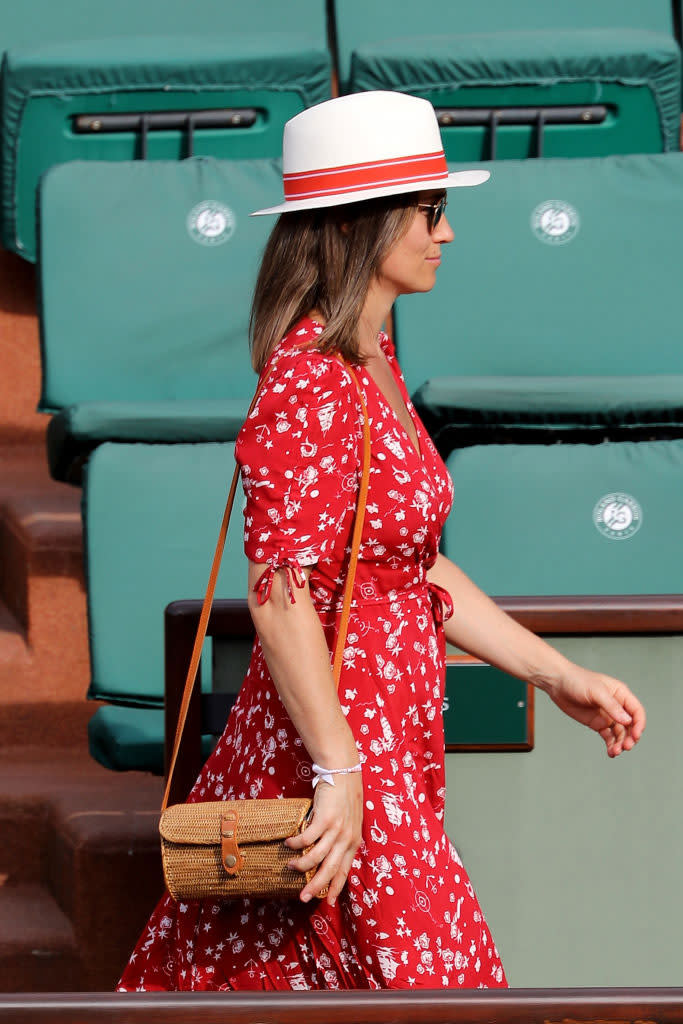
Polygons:
[[544,689],[565,715],[599,733],[615,758],[632,750],[645,728],[645,709],[618,679],[569,666],[559,683]]

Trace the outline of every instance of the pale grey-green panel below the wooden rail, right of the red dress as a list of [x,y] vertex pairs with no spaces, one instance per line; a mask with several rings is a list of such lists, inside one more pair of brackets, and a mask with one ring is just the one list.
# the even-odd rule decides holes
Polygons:
[[514,987],[681,983],[683,637],[553,640],[646,706],[635,751],[546,697],[529,754],[446,757],[446,831]]

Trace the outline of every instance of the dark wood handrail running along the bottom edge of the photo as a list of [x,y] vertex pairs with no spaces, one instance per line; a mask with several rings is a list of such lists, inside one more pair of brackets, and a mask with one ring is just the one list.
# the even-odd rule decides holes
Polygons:
[[683,988],[0,995],[0,1024],[683,1024]]

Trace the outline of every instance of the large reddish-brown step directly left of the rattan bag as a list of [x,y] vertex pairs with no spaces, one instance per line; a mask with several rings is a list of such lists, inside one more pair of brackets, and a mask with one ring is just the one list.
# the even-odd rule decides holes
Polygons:
[[[85,748],[0,751],[4,888],[45,887],[71,925],[82,990],[114,988],[163,892],[161,798],[160,778],[109,772]],[[0,929],[13,941],[10,918]],[[31,963],[16,990],[42,990],[30,983]]]

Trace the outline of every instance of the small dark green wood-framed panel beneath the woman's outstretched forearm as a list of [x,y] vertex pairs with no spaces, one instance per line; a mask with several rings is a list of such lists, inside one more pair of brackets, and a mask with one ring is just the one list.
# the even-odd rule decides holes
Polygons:
[[445,670],[445,748],[530,749],[532,722],[527,687],[506,672],[479,662],[451,664]]

